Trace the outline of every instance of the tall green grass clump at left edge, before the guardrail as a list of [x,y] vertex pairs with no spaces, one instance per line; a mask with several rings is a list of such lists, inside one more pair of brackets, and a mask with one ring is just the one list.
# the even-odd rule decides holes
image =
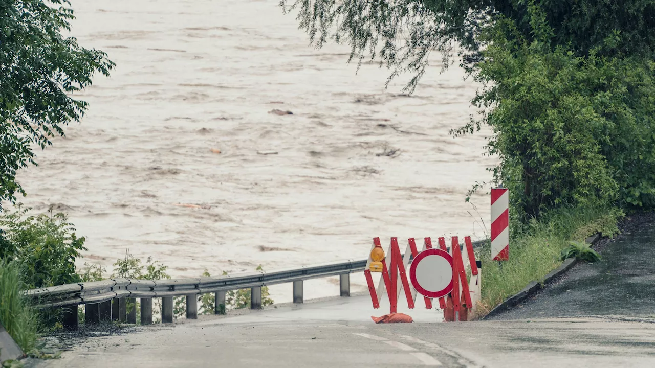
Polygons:
[[24,352],[35,350],[38,314],[21,295],[24,283],[18,263],[0,261],[0,321]]

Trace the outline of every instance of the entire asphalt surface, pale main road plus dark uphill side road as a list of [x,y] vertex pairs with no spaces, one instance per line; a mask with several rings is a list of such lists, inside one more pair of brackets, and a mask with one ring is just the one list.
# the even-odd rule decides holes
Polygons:
[[[642,215],[533,299],[491,321],[376,325],[367,296],[288,304],[173,325],[64,334],[62,359],[28,367],[655,367],[655,226]],[[553,318],[557,316],[558,318]],[[551,317],[551,318],[546,318]],[[83,337],[79,337],[82,335]]]

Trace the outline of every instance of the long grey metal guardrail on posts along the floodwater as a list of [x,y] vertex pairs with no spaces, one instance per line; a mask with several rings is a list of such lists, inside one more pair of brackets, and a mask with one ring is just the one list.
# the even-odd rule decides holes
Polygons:
[[[477,248],[488,240],[474,242]],[[293,303],[303,303],[303,280],[340,277],[341,296],[350,296],[350,274],[362,272],[367,259],[323,263],[271,272],[255,271],[224,276],[178,278],[164,280],[136,280],[114,278],[98,282],[80,282],[26,291],[26,296],[37,308],[67,308],[64,327],[77,329],[77,306],[86,306],[86,323],[100,320],[121,320],[136,323],[134,303],[128,309],[127,299],[141,299],[141,323],[152,323],[152,299],[162,298],[162,322],[172,322],[173,297],[187,297],[187,318],[196,318],[196,295],[215,293],[215,313],[225,311],[225,291],[250,289],[252,309],[261,308],[261,287],[293,282]],[[131,317],[131,318],[130,318]]]

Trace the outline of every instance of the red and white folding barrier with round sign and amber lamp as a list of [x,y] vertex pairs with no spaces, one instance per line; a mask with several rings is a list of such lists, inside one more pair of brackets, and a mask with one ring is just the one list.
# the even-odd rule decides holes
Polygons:
[[[466,248],[464,253],[460,250],[457,236],[451,238],[450,253],[445,238],[438,238],[438,242],[439,248],[433,249],[432,240],[424,238],[423,249],[419,252],[414,238],[409,238],[403,256],[398,246],[398,238],[391,238],[385,256],[380,238],[373,238],[373,246],[364,270],[373,308],[380,307],[383,294],[386,292],[389,297],[390,312],[396,313],[400,291],[403,289],[410,309],[415,306],[417,293],[421,293],[426,309],[432,309],[434,298],[439,300],[439,307],[444,311],[444,319],[447,322],[466,321],[472,317],[468,312],[469,310],[475,312],[477,301],[480,299],[481,275],[471,237],[464,238],[464,248]],[[411,270],[408,271],[407,266],[411,257],[414,261]],[[471,267],[471,288],[466,280],[464,268],[467,259]],[[420,267],[421,263],[424,263],[424,267]],[[382,273],[377,290],[371,272]],[[411,282],[407,278],[408,272]]]

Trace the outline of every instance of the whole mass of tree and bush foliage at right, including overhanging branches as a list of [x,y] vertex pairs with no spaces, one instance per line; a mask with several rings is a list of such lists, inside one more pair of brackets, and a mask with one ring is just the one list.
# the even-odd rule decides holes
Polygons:
[[[433,50],[483,84],[472,103],[515,215],[563,204],[655,206],[655,3],[646,0],[282,0],[320,47],[414,73]],[[477,189],[477,186],[474,187]]]

